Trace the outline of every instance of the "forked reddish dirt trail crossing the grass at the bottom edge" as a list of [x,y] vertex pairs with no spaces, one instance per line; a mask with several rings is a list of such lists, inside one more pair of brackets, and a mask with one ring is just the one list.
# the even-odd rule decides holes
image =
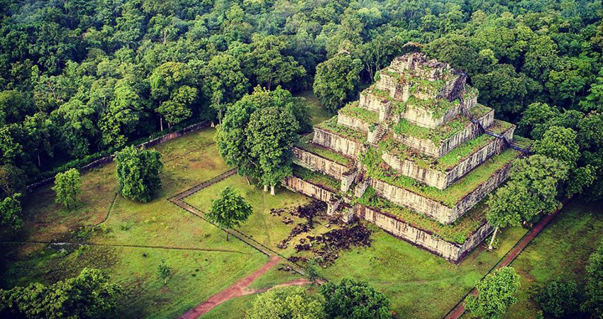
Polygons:
[[[249,285],[253,281],[255,281],[255,279],[258,279],[260,276],[262,276],[262,274],[265,274],[265,272],[270,270],[272,267],[275,267],[281,260],[282,259],[277,256],[270,257],[270,259],[268,259],[268,261],[264,264],[264,266],[262,266],[262,268],[253,272],[253,274],[250,274],[249,276],[246,276],[245,278],[240,279],[239,281],[234,283],[232,286],[228,287],[227,289],[224,289],[220,293],[217,293],[216,295],[211,296],[206,301],[199,303],[199,305],[197,305],[195,308],[192,308],[191,310],[188,310],[187,312],[183,313],[177,319],[197,319],[197,318],[201,317],[201,315],[208,313],[209,310],[216,308],[216,306],[218,306],[219,304],[221,304],[225,301],[229,301],[232,298],[245,296],[245,295],[249,295],[252,293],[261,293],[261,292],[269,290],[270,288],[274,288],[274,287],[270,287],[270,288],[265,288],[265,289],[249,289]],[[301,286],[304,284],[309,284],[309,281],[307,279],[295,279],[295,280],[289,281],[285,284],[277,285],[275,287],[278,287],[278,286]]]

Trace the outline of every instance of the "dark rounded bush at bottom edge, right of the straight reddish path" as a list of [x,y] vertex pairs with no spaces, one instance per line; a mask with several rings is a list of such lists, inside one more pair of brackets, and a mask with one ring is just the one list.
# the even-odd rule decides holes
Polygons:
[[575,281],[551,281],[538,293],[536,301],[545,313],[554,318],[572,315],[580,308],[578,289]]

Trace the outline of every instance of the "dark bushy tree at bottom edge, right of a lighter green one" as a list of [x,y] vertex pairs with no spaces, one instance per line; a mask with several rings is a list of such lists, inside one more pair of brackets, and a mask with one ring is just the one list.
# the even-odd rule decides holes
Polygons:
[[329,318],[389,319],[389,300],[365,281],[343,278],[321,286]]

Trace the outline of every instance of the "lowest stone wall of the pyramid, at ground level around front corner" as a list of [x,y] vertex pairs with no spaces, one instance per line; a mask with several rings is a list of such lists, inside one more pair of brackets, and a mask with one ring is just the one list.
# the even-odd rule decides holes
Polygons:
[[392,216],[391,214],[379,211],[375,208],[356,205],[355,211],[358,218],[374,223],[377,227],[385,230],[387,233],[454,263],[460,262],[463,257],[469,254],[471,250],[477,247],[477,245],[492,232],[492,226],[485,223],[480,226],[480,228],[478,228],[463,245],[460,245],[443,240],[441,237],[433,235],[426,230],[416,228],[396,216]]

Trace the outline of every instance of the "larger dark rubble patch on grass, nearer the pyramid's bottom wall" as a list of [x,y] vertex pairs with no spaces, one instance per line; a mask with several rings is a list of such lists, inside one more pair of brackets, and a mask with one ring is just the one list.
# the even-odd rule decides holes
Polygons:
[[352,247],[370,247],[371,231],[361,223],[341,229],[329,230],[319,236],[307,236],[306,241],[300,241],[295,246],[296,252],[311,251],[316,262],[325,267],[332,264],[339,257],[341,250],[349,250]]

